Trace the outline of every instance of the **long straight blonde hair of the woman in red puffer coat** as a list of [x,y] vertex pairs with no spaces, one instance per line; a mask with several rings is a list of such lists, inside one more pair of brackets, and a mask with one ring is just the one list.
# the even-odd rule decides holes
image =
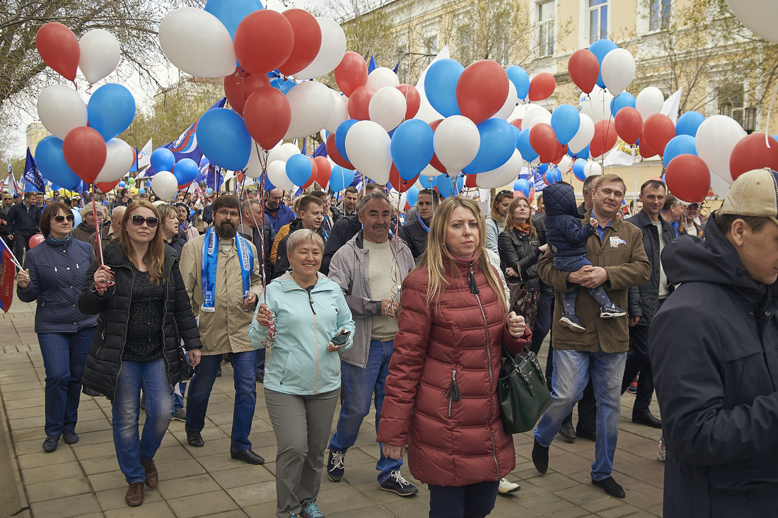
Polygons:
[[454,196],[443,200],[433,215],[432,222],[429,223],[427,249],[419,259],[419,267],[426,266],[429,275],[427,304],[432,305],[433,300],[435,300],[436,303],[440,303],[440,292],[443,291],[443,283],[446,282],[444,278],[443,256],[447,257],[450,261],[450,275],[452,277],[459,275],[459,271],[454,264],[454,255],[448,250],[446,244],[448,220],[451,213],[454,212],[454,209],[457,207],[470,209],[473,215],[475,215],[476,221],[478,221],[478,248],[475,250],[475,257],[478,259],[478,269],[483,272],[486,276],[486,281],[489,283],[489,287],[494,290],[497,300],[499,301],[499,307],[503,312],[507,312],[503,285],[492,270],[491,264],[489,264],[489,257],[486,255],[486,247],[484,246],[486,228],[481,209],[478,208],[478,204],[475,201],[472,201],[470,198],[465,198],[464,196]]

